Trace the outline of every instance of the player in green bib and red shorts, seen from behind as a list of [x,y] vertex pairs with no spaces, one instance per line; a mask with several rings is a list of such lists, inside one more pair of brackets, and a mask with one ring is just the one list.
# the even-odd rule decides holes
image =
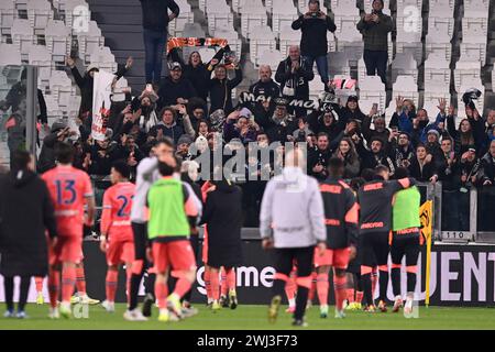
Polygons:
[[[196,279],[196,258],[188,238],[190,228],[196,227],[198,209],[191,191],[173,177],[175,166],[172,155],[160,162],[162,178],[150,188],[146,199],[150,212],[147,235],[152,242],[148,254],[156,272],[155,296],[160,321],[177,321],[183,317],[180,298]],[[177,272],[178,280],[168,295],[170,270]]]

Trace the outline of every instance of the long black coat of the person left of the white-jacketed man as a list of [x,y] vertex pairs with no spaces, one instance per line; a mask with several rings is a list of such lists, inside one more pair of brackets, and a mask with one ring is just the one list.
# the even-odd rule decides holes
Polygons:
[[232,267],[242,264],[242,191],[226,182],[209,193],[201,223],[208,229],[208,265]]

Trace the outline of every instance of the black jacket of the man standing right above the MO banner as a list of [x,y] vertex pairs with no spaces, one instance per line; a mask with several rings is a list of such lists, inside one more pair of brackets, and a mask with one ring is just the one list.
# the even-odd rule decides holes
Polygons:
[[275,80],[280,84],[280,92],[284,95],[284,87],[295,88],[295,98],[309,99],[308,81],[315,78],[312,67],[301,57],[299,59],[299,69],[294,74],[292,72],[290,57],[287,57],[278,64],[275,74]]

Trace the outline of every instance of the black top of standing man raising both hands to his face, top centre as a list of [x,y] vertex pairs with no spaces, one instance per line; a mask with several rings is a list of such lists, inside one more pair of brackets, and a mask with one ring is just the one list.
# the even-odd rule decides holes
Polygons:
[[328,15],[305,19],[301,14],[293,22],[293,30],[300,30],[300,53],[308,56],[323,56],[328,52],[327,31],[336,32],[337,26]]

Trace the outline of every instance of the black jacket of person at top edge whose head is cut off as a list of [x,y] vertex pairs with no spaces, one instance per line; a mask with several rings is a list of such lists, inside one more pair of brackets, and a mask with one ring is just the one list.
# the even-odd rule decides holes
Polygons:
[[180,9],[174,0],[140,0],[143,12],[143,28],[165,32],[168,28],[168,9],[179,15]]

